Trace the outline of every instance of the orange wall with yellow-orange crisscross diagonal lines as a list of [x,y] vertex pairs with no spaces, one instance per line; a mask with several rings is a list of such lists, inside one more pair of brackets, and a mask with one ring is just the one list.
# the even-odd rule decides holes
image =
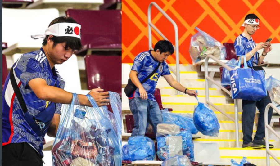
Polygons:
[[[147,11],[150,2],[156,2],[178,25],[180,63],[192,63],[188,49],[191,36],[201,30],[219,42],[233,43],[242,33],[246,14],[260,18],[260,29],[253,39],[256,43],[272,38],[280,43],[280,0],[122,0],[122,62],[132,63],[138,53],[148,50]],[[172,42],[173,25],[155,7],[152,23]],[[152,32],[153,45],[160,39]],[[175,54],[167,59],[175,63]]]

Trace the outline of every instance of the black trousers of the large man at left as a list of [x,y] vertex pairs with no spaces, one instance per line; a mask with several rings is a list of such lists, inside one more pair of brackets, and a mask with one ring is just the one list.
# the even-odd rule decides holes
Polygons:
[[40,155],[28,143],[10,143],[2,146],[3,166],[43,166]]

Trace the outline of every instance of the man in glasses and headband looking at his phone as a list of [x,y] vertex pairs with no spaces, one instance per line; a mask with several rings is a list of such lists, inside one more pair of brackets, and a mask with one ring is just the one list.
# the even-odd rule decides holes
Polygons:
[[[248,14],[245,17],[245,21],[242,26],[244,26],[244,31],[240,34],[235,42],[234,48],[236,55],[238,57],[238,61],[241,61],[243,67],[244,61],[243,56],[246,56],[246,62],[248,67],[253,68],[254,66],[259,66],[263,61],[267,53],[272,50],[271,44],[269,42],[260,42],[259,44],[255,44],[252,35],[255,34],[259,26],[260,19],[255,14]],[[257,52],[260,49],[264,49],[261,55]],[[241,58],[242,56],[242,58]],[[243,148],[263,148],[265,147],[265,133],[264,133],[264,110],[265,107],[271,103],[269,94],[261,99],[260,101],[249,101],[242,100],[242,132],[243,132]],[[252,141],[253,134],[253,125],[256,107],[259,109],[259,120],[257,131]],[[273,109],[269,109],[268,113],[268,121],[270,123],[272,117]],[[269,144],[269,148],[273,148],[274,146]]]

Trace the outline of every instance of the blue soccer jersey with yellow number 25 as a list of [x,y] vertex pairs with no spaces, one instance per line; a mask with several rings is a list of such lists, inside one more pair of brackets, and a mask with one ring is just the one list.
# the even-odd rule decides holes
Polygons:
[[[147,76],[149,76],[157,67],[158,61],[154,59],[151,55],[151,50],[141,52],[138,54],[133,62],[133,66],[131,70],[135,70],[138,72],[137,77],[141,82]],[[147,92],[148,99],[152,101],[156,101],[154,93],[156,90],[156,84],[160,76],[169,75],[170,71],[168,68],[167,63],[164,61],[160,64],[158,70],[149,78],[145,83],[142,84],[145,91]],[[139,89],[137,88],[136,91],[129,97],[132,99],[133,97],[140,97]]]

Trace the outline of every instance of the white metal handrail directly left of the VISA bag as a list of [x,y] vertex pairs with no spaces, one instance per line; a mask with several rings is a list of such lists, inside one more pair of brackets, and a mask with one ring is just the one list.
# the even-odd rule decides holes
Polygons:
[[211,79],[208,76],[208,61],[209,61],[209,58],[216,61],[219,65],[223,66],[224,68],[228,69],[229,71],[231,71],[232,68],[230,68],[228,65],[224,64],[222,61],[220,61],[218,58],[214,57],[213,55],[208,55],[205,58],[205,62],[204,62],[204,67],[205,67],[205,71],[204,71],[205,72],[204,73],[204,75],[205,75],[205,96],[206,96],[206,104],[207,105],[211,105],[212,107],[214,107],[216,110],[218,110],[219,112],[224,114],[226,117],[228,117],[230,120],[232,120],[235,123],[235,142],[236,142],[236,147],[239,147],[237,99],[234,99],[234,119],[232,117],[230,117],[226,112],[221,110],[219,107],[214,105],[212,102],[210,102],[210,100],[209,100],[209,83],[208,83],[209,81],[214,83],[215,85],[217,85],[219,88],[221,88],[224,92],[228,93],[230,96],[232,96],[232,93],[230,91],[228,91],[226,88],[224,88],[223,86],[221,86],[218,82],[214,81],[213,79]]

